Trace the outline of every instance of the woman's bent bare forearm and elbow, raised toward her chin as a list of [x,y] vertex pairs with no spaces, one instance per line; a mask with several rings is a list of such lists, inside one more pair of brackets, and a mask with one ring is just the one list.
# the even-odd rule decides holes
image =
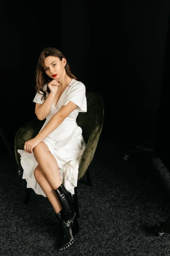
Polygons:
[[51,110],[51,105],[53,104],[55,93],[50,92],[48,97],[42,104],[36,103],[35,114],[39,120],[44,120]]

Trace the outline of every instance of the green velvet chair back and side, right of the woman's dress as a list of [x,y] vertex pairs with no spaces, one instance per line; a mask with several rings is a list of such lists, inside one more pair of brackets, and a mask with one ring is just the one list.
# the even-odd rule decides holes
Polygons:
[[80,112],[77,116],[77,124],[82,128],[82,135],[87,144],[79,163],[78,180],[85,174],[89,164],[93,160],[104,119],[104,101],[102,95],[86,92],[86,97],[87,112]]

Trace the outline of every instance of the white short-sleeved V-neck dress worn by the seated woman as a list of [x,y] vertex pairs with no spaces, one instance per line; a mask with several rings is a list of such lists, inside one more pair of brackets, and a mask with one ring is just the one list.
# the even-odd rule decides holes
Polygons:
[[[44,85],[44,90],[46,89],[47,84]],[[33,102],[42,104],[44,102],[44,99],[41,100],[42,96],[42,94],[37,93]],[[57,105],[55,106],[54,103],[51,105],[50,113],[46,117],[42,128],[44,128],[51,117],[69,101],[74,102],[78,107],[42,141],[48,146],[49,151],[57,160],[60,168],[60,177],[62,179],[62,183],[65,185],[65,188],[68,189],[71,194],[74,194],[74,187],[77,186],[79,162],[86,146],[82,137],[82,128],[80,128],[76,122],[79,112],[87,112],[85,85],[82,82],[72,79],[70,84],[68,84],[68,87],[66,87],[59,98]],[[45,193],[34,177],[34,169],[38,165],[34,154],[26,153],[25,150],[21,149],[18,149],[18,153],[20,153],[20,163],[23,167],[22,178],[26,179],[27,188],[32,188],[36,194],[46,197]]]

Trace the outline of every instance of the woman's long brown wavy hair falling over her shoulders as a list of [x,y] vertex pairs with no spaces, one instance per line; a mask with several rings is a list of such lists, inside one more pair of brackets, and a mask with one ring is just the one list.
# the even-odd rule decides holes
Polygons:
[[[38,59],[38,64],[37,64],[37,68],[36,68],[36,72],[35,72],[35,76],[36,76],[36,91],[38,93],[40,93],[40,91],[43,93],[40,93],[42,94],[42,98],[41,99],[46,99],[46,92],[49,94],[50,93],[50,89],[48,88],[47,86],[47,90],[43,90],[43,87],[46,83],[49,83],[52,79],[47,76],[47,74],[45,73],[45,70],[44,70],[44,61],[45,61],[45,58],[48,57],[48,56],[54,56],[54,57],[58,57],[60,59],[60,61],[62,61],[62,58],[65,58],[66,61],[67,61],[67,58],[65,57],[65,55],[63,55],[63,53],[61,51],[59,51],[59,49],[57,48],[54,48],[54,47],[46,47],[45,49],[42,50],[42,52],[40,53],[40,56],[39,56],[39,59]],[[74,76],[72,73],[71,73],[71,67],[68,63],[68,61],[66,62],[66,65],[65,65],[65,71],[67,73],[67,75],[70,77],[70,78],[74,78],[77,80],[77,77]]]

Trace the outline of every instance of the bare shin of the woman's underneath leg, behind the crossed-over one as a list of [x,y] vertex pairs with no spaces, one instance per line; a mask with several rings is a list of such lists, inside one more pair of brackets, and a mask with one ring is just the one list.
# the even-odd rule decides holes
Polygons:
[[46,177],[43,175],[39,165],[37,165],[37,167],[34,170],[34,176],[37,180],[37,183],[40,185],[45,195],[47,196],[48,200],[52,204],[55,212],[56,213],[60,212],[62,209],[61,203],[56,195],[56,192],[48,183],[48,180],[46,179]]

